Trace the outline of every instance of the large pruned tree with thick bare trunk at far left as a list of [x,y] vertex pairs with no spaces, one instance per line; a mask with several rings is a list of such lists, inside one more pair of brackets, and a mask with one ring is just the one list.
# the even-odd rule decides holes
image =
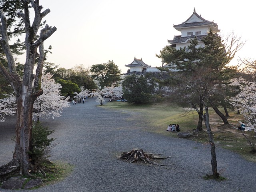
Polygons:
[[[14,56],[11,52],[8,36],[8,20],[4,10],[0,10],[1,19],[1,39],[0,44],[8,61],[9,71],[0,63],[0,72],[11,84],[17,98],[17,122],[16,122],[16,144],[12,161],[4,167],[8,167],[0,175],[9,174],[19,170],[22,175],[30,175],[33,165],[30,162],[29,151],[32,149],[32,112],[33,104],[36,98],[42,95],[41,76],[44,62],[44,41],[48,39],[57,29],[47,24],[42,26],[42,18],[50,13],[49,9],[42,11],[43,7],[39,5],[39,0],[20,0],[23,12],[18,15],[24,21],[25,26],[25,46],[26,62],[24,66],[23,79],[17,73]],[[34,10],[34,18],[30,18],[30,7]],[[42,12],[41,12],[42,11]],[[8,12],[7,12],[8,15]],[[32,22],[31,22],[32,21]],[[39,32],[39,34],[38,34]],[[39,49],[39,53],[37,50]],[[38,58],[36,74],[33,74],[35,61]],[[34,83],[34,86],[33,86]],[[0,167],[2,168],[2,167]]]

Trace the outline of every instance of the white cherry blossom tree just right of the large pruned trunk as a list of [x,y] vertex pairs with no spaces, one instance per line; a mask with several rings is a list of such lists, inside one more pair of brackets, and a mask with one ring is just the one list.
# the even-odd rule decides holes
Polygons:
[[39,121],[40,117],[55,118],[60,117],[63,108],[70,107],[69,97],[60,96],[62,86],[55,83],[52,74],[42,75],[42,89],[44,93],[36,98],[33,107],[33,116]]

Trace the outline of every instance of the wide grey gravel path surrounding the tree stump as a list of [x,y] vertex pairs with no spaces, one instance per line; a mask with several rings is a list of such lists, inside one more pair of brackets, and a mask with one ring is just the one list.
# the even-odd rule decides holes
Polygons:
[[[51,159],[75,167],[65,180],[31,192],[256,191],[256,163],[217,147],[218,171],[228,180],[204,180],[202,176],[211,173],[208,145],[145,132],[142,130],[145,127],[139,124],[139,114],[96,105],[94,99],[89,98],[85,104],[77,103],[66,108],[60,118],[44,121],[55,129],[53,137],[59,143]],[[0,122],[0,164],[7,163],[14,150],[14,143],[10,140],[14,135],[11,119],[13,117]],[[171,156],[162,163],[173,165],[164,169],[117,159],[118,154],[134,147]],[[9,191],[0,189],[0,192]]]

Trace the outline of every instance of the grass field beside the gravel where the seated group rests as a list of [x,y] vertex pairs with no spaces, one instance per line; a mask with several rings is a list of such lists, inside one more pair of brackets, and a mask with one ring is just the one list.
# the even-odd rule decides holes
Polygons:
[[[147,125],[145,131],[170,137],[176,137],[176,133],[165,131],[169,124],[179,124],[181,132],[190,132],[193,129],[196,129],[198,123],[198,114],[195,110],[188,110],[187,108],[182,108],[166,102],[140,105],[130,104],[128,102],[108,102],[104,104],[103,107],[124,113],[132,112],[132,114],[140,116],[141,124]],[[236,112],[230,111],[229,113],[230,117],[228,118],[228,121],[230,126],[224,126],[222,119],[214,112],[214,110],[209,110],[210,126],[212,133],[214,134],[216,147],[220,146],[232,150],[242,155],[247,160],[256,162],[256,154],[250,153],[248,142],[240,130],[234,128],[239,125],[238,120],[241,120],[240,118],[242,117],[239,114],[236,114]],[[208,134],[204,125],[203,129],[204,131],[200,132],[198,136],[190,139],[195,142],[207,143]],[[250,139],[256,143],[254,132],[246,131],[246,134],[248,134]]]

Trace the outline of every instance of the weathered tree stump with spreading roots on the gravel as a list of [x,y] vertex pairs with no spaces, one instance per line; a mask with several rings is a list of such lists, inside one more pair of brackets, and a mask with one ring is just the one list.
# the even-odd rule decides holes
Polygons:
[[158,155],[160,155],[160,154],[146,154],[140,148],[133,148],[132,151],[130,151],[130,152],[123,152],[119,159],[126,160],[127,162],[130,162],[130,163],[144,162],[145,164],[165,166],[165,165],[156,163],[156,160],[166,159],[166,158],[169,158],[170,156],[169,157],[157,157]]

